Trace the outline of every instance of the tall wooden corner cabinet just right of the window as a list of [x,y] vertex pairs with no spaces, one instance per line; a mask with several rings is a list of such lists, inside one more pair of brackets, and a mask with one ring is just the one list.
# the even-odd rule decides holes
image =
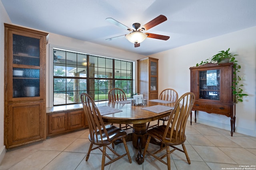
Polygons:
[[144,99],[158,99],[158,59],[147,57],[137,60],[138,89]]

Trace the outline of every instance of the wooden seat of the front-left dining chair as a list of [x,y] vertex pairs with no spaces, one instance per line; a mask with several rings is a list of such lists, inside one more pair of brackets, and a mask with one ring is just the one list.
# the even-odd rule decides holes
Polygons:
[[106,134],[104,133],[104,130],[101,129],[102,133],[102,140],[100,139],[100,132],[97,132],[98,135],[98,142],[96,135],[94,135],[94,139],[91,139],[91,136],[89,135],[89,140],[95,144],[95,145],[109,145],[112,143],[112,141],[116,141],[117,139],[122,139],[122,137],[126,137],[126,132],[122,129],[115,127],[113,125],[106,125],[106,131],[108,133],[110,141],[108,141]]

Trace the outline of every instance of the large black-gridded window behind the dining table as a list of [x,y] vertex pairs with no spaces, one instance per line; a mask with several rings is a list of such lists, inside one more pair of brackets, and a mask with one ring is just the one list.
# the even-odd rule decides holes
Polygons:
[[80,102],[86,92],[95,101],[107,100],[112,88],[133,93],[133,63],[118,59],[53,49],[53,105]]

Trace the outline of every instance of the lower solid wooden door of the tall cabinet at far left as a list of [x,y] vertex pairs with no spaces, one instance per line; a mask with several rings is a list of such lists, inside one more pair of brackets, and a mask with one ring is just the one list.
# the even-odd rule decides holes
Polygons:
[[8,104],[5,119],[5,141],[7,148],[42,141],[45,138],[44,102]]

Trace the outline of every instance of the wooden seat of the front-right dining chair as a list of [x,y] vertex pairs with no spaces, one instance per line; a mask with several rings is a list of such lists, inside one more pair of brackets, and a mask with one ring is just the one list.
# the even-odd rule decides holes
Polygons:
[[184,135],[183,139],[180,139],[179,135],[176,139],[174,138],[176,136],[176,130],[173,131],[172,140],[170,141],[170,129],[171,128],[169,127],[168,133],[164,140],[162,139],[164,136],[164,131],[166,130],[166,125],[154,127],[153,129],[148,130],[147,134],[155,139],[161,140],[162,143],[166,145],[180,145],[186,141],[186,135]]

